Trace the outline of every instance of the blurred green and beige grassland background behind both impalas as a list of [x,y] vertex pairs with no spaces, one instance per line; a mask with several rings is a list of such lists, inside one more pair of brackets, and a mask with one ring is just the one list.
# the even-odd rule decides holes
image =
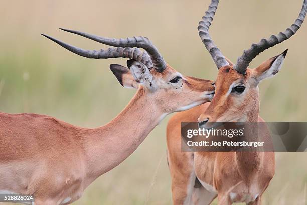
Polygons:
[[[135,90],[121,87],[109,70],[109,64],[125,65],[126,60],[86,59],[40,35],[85,49],[106,48],[58,30],[61,27],[115,38],[147,36],[165,60],[184,75],[215,79],[217,69],[197,32],[209,3],[1,1],[0,111],[40,113],[78,126],[97,127],[114,118],[132,98]],[[211,36],[235,62],[251,43],[290,26],[301,4],[302,0],[220,1]],[[251,63],[250,67],[256,67],[289,49],[281,72],[260,85],[260,114],[266,121],[307,121],[306,39],[305,22],[290,40],[261,53]],[[165,140],[169,117],[74,204],[171,204]],[[264,204],[307,204],[306,157],[305,153],[276,154],[276,174]]]

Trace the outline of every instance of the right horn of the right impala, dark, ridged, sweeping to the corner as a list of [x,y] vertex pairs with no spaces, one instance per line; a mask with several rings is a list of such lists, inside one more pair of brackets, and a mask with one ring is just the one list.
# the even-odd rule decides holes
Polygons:
[[300,28],[301,24],[303,23],[306,13],[307,13],[307,0],[303,0],[301,11],[299,13],[298,18],[295,20],[294,24],[292,24],[284,32],[280,32],[277,35],[272,35],[268,39],[261,39],[261,41],[257,44],[253,43],[248,50],[244,50],[243,55],[238,58],[238,61],[233,68],[237,70],[239,73],[244,75],[249,63],[258,54],[276,44],[279,44],[289,39],[292,35],[294,35],[296,31]]

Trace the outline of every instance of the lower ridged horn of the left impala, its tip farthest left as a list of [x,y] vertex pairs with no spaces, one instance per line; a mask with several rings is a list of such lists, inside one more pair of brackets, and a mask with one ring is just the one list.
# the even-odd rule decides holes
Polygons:
[[144,63],[148,68],[153,67],[152,62],[150,60],[150,56],[146,51],[141,51],[138,48],[108,48],[107,50],[101,49],[100,51],[96,50],[85,50],[82,48],[78,48],[72,45],[69,45],[63,41],[60,41],[58,39],[55,39],[51,36],[42,34],[46,38],[49,38],[50,40],[56,42],[60,46],[66,48],[67,50],[78,54],[80,56],[86,57],[86,58],[95,58],[95,59],[106,59],[106,58],[130,58],[138,60],[142,63]]

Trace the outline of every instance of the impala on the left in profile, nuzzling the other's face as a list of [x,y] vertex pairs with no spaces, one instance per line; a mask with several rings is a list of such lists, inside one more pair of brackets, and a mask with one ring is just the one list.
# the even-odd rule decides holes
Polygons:
[[215,90],[212,81],[184,77],[167,65],[147,38],[65,31],[117,48],[88,51],[44,36],[87,58],[130,58],[129,69],[115,64],[110,68],[121,85],[138,90],[111,122],[95,129],[45,115],[0,113],[0,193],[31,194],[38,205],[77,200],[97,177],[125,160],[167,114],[208,102]]

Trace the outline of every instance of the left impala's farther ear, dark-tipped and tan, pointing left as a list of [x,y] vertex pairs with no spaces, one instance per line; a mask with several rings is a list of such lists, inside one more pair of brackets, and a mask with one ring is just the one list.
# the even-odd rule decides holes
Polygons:
[[110,69],[123,87],[138,88],[138,83],[134,80],[134,77],[128,68],[118,64],[111,64]]

